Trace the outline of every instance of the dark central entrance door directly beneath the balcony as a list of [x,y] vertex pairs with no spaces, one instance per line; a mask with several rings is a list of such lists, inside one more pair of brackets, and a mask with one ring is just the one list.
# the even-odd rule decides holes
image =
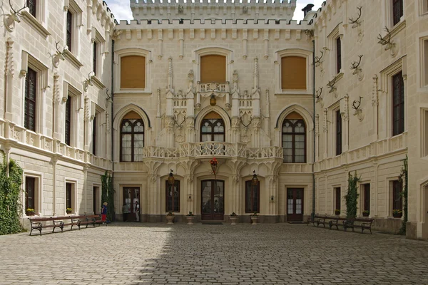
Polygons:
[[221,220],[225,214],[223,180],[203,180],[200,184],[200,213],[203,220]]

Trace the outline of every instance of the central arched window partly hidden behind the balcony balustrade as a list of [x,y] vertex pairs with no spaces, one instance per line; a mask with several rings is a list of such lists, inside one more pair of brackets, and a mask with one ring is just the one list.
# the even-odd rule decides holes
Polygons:
[[225,122],[218,113],[211,112],[205,115],[200,123],[201,142],[224,142]]

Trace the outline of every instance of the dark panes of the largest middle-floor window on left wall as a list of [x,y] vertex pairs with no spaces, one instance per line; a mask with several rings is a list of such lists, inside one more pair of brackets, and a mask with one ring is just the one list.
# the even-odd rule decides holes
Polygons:
[[24,127],[36,131],[37,73],[29,68],[25,78]]

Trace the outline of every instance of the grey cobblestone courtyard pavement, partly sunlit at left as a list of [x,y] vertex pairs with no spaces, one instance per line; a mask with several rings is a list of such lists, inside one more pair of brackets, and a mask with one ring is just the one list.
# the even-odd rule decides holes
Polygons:
[[428,242],[305,224],[114,223],[0,237],[0,284],[428,284]]

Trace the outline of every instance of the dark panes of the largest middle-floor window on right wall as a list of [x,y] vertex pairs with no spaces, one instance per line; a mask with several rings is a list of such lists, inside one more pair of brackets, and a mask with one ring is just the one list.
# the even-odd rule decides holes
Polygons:
[[404,82],[402,71],[392,76],[392,135],[404,132]]

